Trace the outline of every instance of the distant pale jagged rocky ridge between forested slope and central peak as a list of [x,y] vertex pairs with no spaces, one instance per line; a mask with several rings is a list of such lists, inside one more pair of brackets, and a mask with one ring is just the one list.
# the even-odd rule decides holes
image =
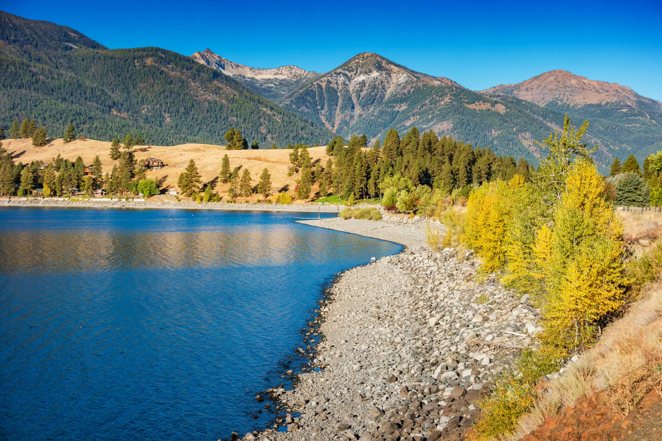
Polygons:
[[266,99],[280,103],[283,98],[298,89],[301,83],[311,81],[321,74],[306,71],[301,67],[288,65],[274,69],[260,69],[239,63],[233,63],[211,52],[207,48],[204,52],[195,52],[193,60],[230,75],[255,93]]

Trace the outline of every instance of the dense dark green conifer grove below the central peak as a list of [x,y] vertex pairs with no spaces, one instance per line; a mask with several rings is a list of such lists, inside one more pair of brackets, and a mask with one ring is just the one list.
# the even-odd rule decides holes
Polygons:
[[[336,137],[326,146],[332,159],[324,168],[317,163],[311,173],[313,182],[320,180],[320,197],[328,192],[355,200],[386,196],[389,200],[383,203],[393,206],[412,192],[424,196],[438,190],[445,195],[472,184],[508,180],[516,173],[528,177],[532,168],[523,158],[516,162],[510,156],[496,156],[490,147],[474,148],[446,136],[438,138],[432,130],[420,134],[416,127],[402,138],[397,130],[389,130],[383,144],[375,140],[370,149],[365,150],[366,146],[365,135],[352,136],[348,145]],[[296,153],[291,155],[291,162],[295,167],[302,163],[304,173],[309,168]],[[301,182],[307,184],[303,173]]]

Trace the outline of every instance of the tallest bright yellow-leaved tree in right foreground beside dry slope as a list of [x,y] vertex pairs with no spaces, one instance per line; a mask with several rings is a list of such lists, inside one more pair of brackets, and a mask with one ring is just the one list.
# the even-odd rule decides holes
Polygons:
[[536,238],[536,263],[548,290],[540,336],[545,344],[569,349],[590,344],[596,321],[625,301],[629,281],[622,264],[622,226],[600,198],[603,189],[592,164],[575,164],[553,229],[542,227]]

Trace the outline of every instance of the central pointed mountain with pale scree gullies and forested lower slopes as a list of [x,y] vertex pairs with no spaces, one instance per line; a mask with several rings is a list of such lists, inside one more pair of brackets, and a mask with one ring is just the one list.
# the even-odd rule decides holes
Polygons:
[[532,139],[549,134],[545,122],[515,104],[371,53],[304,83],[283,106],[345,137],[383,140],[391,128],[402,133],[416,126],[531,160],[540,155]]

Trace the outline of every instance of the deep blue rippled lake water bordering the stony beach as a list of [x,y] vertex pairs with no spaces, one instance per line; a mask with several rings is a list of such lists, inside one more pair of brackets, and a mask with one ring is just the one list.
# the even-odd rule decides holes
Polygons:
[[295,216],[0,208],[0,438],[216,441],[273,422],[255,395],[291,387],[322,286],[401,249]]

